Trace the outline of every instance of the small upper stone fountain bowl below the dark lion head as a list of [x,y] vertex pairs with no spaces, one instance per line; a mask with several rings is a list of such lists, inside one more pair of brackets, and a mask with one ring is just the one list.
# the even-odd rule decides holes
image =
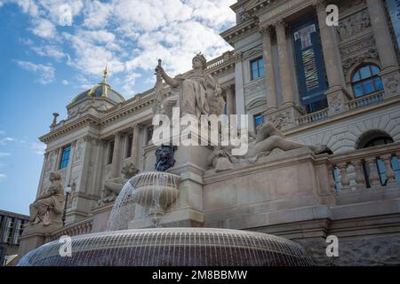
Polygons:
[[132,200],[143,207],[166,209],[178,198],[179,175],[159,171],[151,173],[150,177],[144,172],[132,178]]

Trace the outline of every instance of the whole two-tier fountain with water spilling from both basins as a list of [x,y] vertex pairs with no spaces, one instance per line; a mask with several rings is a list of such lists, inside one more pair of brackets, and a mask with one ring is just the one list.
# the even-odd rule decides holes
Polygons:
[[[308,266],[312,260],[293,241],[265,233],[215,228],[127,230],[137,206],[155,225],[178,197],[180,176],[144,172],[132,177],[116,199],[108,231],[72,237],[72,256],[52,241],[20,259],[29,266]],[[136,211],[136,212],[135,212]]]

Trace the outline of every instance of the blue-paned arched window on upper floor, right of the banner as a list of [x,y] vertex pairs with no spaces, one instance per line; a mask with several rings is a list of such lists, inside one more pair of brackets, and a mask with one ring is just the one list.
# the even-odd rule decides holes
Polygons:
[[380,67],[372,64],[365,65],[356,70],[356,73],[351,78],[351,84],[356,98],[383,90],[383,83],[379,74]]

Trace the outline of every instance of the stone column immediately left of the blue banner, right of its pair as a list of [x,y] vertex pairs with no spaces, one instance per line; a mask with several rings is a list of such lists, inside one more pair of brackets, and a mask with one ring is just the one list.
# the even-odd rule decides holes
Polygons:
[[[282,97],[284,104],[293,104],[293,87],[291,69],[289,66],[289,53],[287,48],[286,31],[284,20],[278,20],[275,23],[276,41],[279,53],[279,70],[281,75]],[[266,70],[266,72],[269,70]]]

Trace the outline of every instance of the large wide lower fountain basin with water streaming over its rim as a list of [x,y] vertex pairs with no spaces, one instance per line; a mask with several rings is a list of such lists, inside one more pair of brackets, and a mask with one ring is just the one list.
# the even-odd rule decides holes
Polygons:
[[30,251],[20,266],[309,266],[296,242],[265,233],[214,228],[156,228],[72,237]]

